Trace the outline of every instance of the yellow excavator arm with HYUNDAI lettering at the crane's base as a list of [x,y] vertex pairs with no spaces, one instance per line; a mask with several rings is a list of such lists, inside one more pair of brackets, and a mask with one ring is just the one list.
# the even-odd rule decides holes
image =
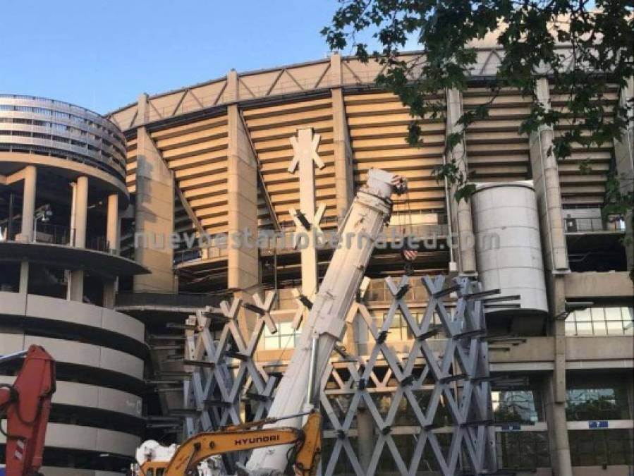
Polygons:
[[211,456],[250,450],[266,446],[290,444],[289,463],[296,476],[313,476],[317,472],[322,452],[322,415],[313,410],[307,414],[303,428],[278,427],[260,428],[262,425],[279,422],[288,418],[266,418],[256,422],[233,425],[217,432],[195,434],[178,446],[170,460],[147,460],[139,462],[138,476],[189,476],[197,474],[198,463]]

